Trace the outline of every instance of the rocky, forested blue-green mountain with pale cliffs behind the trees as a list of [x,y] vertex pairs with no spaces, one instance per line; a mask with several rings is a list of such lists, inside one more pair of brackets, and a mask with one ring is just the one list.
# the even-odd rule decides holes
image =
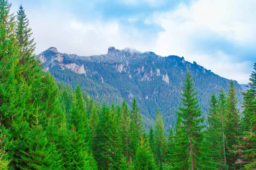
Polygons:
[[[204,114],[208,112],[212,92],[218,95],[221,87],[227,92],[230,82],[196,62],[187,62],[184,57],[161,57],[154,52],[142,53],[133,48],[118,50],[110,47],[108,54],[78,56],[60,53],[51,47],[37,57],[44,70],[59,82],[73,88],[79,82],[81,89],[98,102],[121,104],[125,99],[131,106],[135,97],[147,129],[152,125],[157,108],[163,115],[166,131],[174,125],[187,70],[193,75]],[[241,105],[242,88],[238,82],[235,84]]]

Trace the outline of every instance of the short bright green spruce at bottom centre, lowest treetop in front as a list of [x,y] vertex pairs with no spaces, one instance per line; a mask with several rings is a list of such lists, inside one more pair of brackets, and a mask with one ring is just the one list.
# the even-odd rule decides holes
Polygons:
[[135,169],[156,170],[154,156],[150,147],[148,147],[148,142],[145,142],[143,138],[140,139],[139,146],[136,150]]

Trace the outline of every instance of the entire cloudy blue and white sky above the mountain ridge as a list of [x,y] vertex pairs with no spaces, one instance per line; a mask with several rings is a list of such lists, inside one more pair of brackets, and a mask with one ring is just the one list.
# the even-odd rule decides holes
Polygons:
[[25,8],[36,54],[108,47],[177,55],[240,84],[256,62],[256,0],[10,0]]

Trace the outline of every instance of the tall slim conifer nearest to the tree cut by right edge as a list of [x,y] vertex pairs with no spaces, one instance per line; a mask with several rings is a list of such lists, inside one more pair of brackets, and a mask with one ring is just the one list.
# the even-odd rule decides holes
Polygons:
[[227,97],[227,125],[226,125],[226,136],[227,136],[227,164],[230,168],[234,167],[237,155],[233,153],[233,147],[238,144],[237,138],[239,136],[239,110],[236,107],[236,88],[233,81],[230,81],[230,89]]

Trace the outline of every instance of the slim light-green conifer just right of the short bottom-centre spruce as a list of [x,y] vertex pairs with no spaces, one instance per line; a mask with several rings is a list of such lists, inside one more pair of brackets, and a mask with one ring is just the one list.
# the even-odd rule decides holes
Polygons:
[[160,170],[163,169],[163,164],[166,162],[166,136],[164,134],[163,118],[159,109],[157,109],[155,120],[155,140],[154,140],[154,155],[157,166]]

